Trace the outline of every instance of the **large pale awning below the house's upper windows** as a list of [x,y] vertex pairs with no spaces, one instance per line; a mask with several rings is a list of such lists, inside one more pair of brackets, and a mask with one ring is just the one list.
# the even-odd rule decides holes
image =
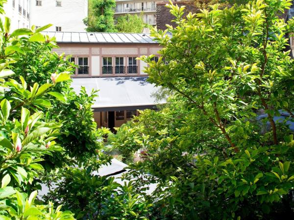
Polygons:
[[89,94],[99,90],[92,106],[95,111],[152,109],[157,104],[152,96],[158,88],[148,83],[147,77],[73,78],[76,93],[83,86]]

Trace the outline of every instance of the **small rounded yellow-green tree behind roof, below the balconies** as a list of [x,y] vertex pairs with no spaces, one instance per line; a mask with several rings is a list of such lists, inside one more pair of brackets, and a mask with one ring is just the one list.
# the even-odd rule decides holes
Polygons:
[[118,32],[123,33],[142,33],[145,26],[146,24],[140,16],[126,14],[118,17],[115,28]]

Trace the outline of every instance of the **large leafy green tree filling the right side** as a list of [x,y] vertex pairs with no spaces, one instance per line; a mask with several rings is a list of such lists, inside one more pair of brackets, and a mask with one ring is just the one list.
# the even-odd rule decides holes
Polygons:
[[158,183],[153,218],[293,217],[294,140],[286,124],[293,119],[276,120],[281,112],[294,116],[294,61],[284,37],[294,21],[278,17],[290,5],[214,5],[186,18],[183,7],[168,6],[178,26],[153,30],[162,56],[142,59],[149,82],[172,97],[109,138],[126,157],[144,150],[126,178],[150,173]]

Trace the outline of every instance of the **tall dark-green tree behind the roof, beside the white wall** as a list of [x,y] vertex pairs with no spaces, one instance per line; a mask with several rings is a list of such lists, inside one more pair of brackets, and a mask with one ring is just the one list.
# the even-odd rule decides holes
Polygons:
[[89,17],[84,19],[89,32],[115,32],[115,0],[91,0]]

